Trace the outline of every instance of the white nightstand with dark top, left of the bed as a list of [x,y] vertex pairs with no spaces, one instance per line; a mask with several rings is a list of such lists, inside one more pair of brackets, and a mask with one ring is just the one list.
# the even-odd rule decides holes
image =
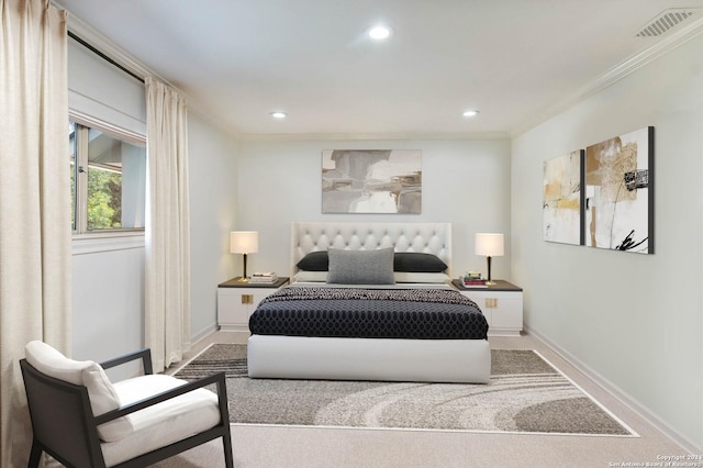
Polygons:
[[288,285],[288,277],[276,282],[243,282],[239,278],[217,285],[217,325],[222,331],[248,332],[249,315],[259,302]]

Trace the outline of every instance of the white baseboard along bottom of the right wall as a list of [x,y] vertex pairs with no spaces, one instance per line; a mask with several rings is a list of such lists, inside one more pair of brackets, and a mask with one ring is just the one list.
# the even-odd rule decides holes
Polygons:
[[623,391],[620,387],[601,376],[599,372],[593,370],[593,368],[585,365],[578,357],[563,349],[561,346],[551,342],[548,337],[539,333],[537,330],[532,328],[529,326],[525,326],[525,332],[529,335],[535,336],[545,345],[547,345],[551,350],[561,356],[563,359],[569,361],[573,367],[576,367],[579,371],[583,372],[591,380],[595,381],[599,386],[603,387],[606,391],[609,391],[613,397],[621,401],[624,405],[629,408],[632,411],[637,413],[641,419],[647,421],[652,426],[657,427],[662,434],[673,441],[676,444],[680,445],[684,450],[688,450],[690,454],[701,454],[703,452],[703,447],[699,446],[696,443],[690,441],[678,431],[672,428],[666,421],[663,421],[658,414],[654,413],[647,406],[638,402],[627,392]]

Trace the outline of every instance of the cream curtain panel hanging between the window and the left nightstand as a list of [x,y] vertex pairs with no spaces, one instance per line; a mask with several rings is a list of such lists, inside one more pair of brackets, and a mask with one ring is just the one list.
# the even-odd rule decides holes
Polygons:
[[145,343],[154,370],[190,350],[190,214],[186,101],[147,77]]

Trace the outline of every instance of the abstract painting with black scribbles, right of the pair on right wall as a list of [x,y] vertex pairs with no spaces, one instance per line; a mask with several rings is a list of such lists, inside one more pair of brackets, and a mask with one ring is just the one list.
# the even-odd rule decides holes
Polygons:
[[585,149],[585,245],[654,254],[654,126]]

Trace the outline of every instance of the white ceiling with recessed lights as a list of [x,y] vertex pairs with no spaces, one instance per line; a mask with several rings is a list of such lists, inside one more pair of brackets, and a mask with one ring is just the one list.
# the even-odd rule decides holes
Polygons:
[[[514,135],[703,0],[59,0],[232,134]],[[367,31],[382,22],[384,42]],[[86,27],[89,25],[90,27]],[[476,118],[464,118],[479,109]],[[275,120],[272,111],[288,118]]]

